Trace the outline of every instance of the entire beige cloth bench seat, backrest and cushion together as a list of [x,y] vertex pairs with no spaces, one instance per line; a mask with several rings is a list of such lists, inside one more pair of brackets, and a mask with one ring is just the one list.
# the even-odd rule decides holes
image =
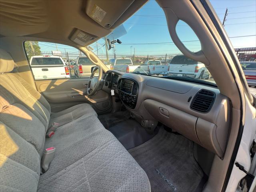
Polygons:
[[[150,191],[144,170],[88,104],[50,115],[46,99],[11,73],[10,55],[0,55],[1,192]],[[45,138],[50,122],[62,126]],[[54,159],[40,175],[43,151],[52,146]]]

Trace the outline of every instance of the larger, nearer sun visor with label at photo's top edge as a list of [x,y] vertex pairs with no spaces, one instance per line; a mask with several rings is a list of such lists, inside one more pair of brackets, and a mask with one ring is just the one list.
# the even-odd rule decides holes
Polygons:
[[104,28],[110,28],[134,0],[87,0],[86,14]]

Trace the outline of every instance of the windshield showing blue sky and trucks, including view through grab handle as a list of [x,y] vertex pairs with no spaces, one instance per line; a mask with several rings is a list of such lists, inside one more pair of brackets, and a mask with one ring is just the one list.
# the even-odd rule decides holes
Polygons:
[[[179,20],[176,32],[188,50],[201,50],[200,40],[186,22]],[[110,50],[106,42],[114,42]],[[203,63],[184,56],[176,47],[164,11],[154,0],[88,48],[111,70],[216,85]]]

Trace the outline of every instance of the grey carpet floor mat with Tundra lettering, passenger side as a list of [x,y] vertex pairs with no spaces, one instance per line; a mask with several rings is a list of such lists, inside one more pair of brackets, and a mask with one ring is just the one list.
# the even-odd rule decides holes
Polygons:
[[192,141],[160,128],[154,138],[128,151],[148,175],[152,192],[174,192],[195,191],[203,177],[192,148]]

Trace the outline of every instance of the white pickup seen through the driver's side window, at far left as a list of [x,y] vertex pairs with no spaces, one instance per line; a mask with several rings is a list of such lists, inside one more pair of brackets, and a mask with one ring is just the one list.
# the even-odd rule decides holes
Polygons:
[[36,80],[70,78],[68,66],[60,56],[32,56],[30,66]]

